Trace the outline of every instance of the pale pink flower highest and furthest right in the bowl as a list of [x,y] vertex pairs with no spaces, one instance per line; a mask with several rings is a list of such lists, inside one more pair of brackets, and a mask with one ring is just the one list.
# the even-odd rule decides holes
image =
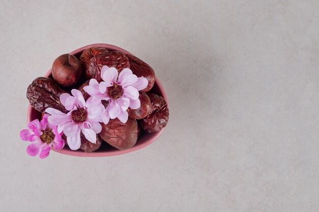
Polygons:
[[126,123],[128,114],[127,108],[138,109],[141,106],[139,90],[147,87],[148,80],[144,77],[137,77],[130,69],[123,69],[118,75],[116,68],[103,66],[101,70],[102,82],[91,79],[90,84],[84,90],[91,95],[90,101],[98,103],[101,100],[108,100],[109,105],[102,114],[104,124],[108,124],[110,118],[118,118]]

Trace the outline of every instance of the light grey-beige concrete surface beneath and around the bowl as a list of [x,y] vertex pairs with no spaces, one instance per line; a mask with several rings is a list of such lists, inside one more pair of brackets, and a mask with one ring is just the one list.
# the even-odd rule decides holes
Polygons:
[[[318,1],[1,1],[0,211],[319,211]],[[170,120],[138,152],[30,157],[26,87],[62,53],[120,46]]]

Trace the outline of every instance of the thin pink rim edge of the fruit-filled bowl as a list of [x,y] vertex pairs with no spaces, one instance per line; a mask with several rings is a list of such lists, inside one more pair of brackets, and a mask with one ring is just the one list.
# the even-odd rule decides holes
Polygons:
[[[90,44],[90,45],[86,45],[83,46],[81,48],[75,49],[73,51],[70,52],[70,54],[77,54],[80,53],[82,51],[84,51],[87,48],[90,47],[101,47],[101,48],[107,48],[107,49],[111,49],[111,50],[115,50],[115,51],[121,51],[125,54],[131,54],[134,56],[134,54],[128,52],[127,50],[120,48],[118,46],[115,45],[111,45],[111,44],[104,44],[104,43],[96,43],[96,44]],[[51,69],[49,69],[46,74],[44,75],[44,77],[48,77],[51,75]],[[161,82],[158,80],[158,78],[155,76],[155,83],[158,86],[158,89],[161,90],[163,98],[165,99],[165,101],[167,102],[167,107],[169,108],[168,105],[168,100],[167,100],[167,95],[165,93],[164,87],[161,84]],[[27,112],[27,123],[29,124],[32,120],[31,120],[31,112],[35,110],[30,104],[28,107],[28,112]],[[62,148],[62,149],[54,149],[52,148],[52,150],[54,150],[57,153],[60,154],[64,154],[64,155],[70,155],[70,156],[77,156],[77,157],[109,157],[109,156],[117,156],[117,155],[123,155],[123,154],[127,154],[127,153],[131,153],[131,152],[135,152],[136,150],[139,150],[141,148],[144,148],[145,146],[148,146],[149,144],[151,144],[152,142],[154,142],[159,135],[162,134],[164,128],[161,131],[158,132],[153,132],[153,136],[146,140],[143,143],[140,143],[138,145],[134,145],[133,147],[129,148],[129,149],[125,149],[125,150],[120,150],[120,149],[114,149],[110,152],[92,152],[92,153],[85,153],[82,150],[71,150],[71,149],[66,149],[66,148]]]

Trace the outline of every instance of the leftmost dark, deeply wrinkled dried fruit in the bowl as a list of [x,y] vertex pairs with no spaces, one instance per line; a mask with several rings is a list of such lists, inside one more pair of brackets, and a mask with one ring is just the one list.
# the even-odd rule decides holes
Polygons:
[[47,77],[38,77],[26,89],[26,98],[31,106],[40,111],[48,107],[55,108],[64,113],[68,111],[60,102],[60,95],[67,93],[53,80]]

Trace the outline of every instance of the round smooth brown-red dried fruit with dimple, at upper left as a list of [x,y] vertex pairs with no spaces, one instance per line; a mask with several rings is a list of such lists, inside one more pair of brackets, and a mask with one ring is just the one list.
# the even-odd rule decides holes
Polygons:
[[60,85],[69,87],[75,85],[82,76],[82,66],[79,60],[71,54],[62,54],[52,65],[52,77]]

